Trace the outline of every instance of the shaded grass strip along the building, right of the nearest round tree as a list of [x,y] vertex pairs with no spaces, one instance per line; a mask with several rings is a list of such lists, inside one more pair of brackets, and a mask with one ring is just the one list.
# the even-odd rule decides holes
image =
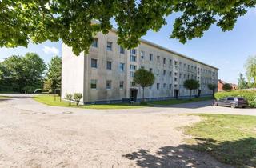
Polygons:
[[154,105],[175,105],[175,104],[182,104],[182,103],[187,103],[187,102],[199,102],[199,101],[204,101],[204,100],[211,100],[211,97],[206,97],[206,98],[192,98],[190,99],[169,99],[169,100],[159,100],[159,101],[151,101],[149,102],[150,104]]

